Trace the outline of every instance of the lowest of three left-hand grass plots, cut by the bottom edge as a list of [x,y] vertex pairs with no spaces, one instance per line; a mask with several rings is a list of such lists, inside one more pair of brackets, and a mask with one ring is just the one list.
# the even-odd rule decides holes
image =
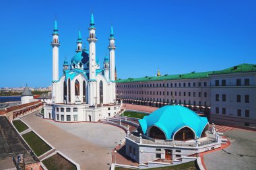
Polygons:
[[55,154],[52,157],[49,157],[48,159],[44,159],[42,161],[44,166],[49,170],[75,170],[76,167],[69,161],[67,161],[65,158],[61,157],[59,154]]

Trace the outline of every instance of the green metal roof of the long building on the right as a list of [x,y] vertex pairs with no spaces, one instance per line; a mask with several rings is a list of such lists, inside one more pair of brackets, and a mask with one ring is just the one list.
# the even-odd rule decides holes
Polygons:
[[218,75],[218,74],[230,74],[230,73],[246,73],[246,72],[254,72],[256,71],[256,65],[253,64],[241,64],[234,67],[230,67],[228,69],[224,69],[221,71],[207,71],[200,73],[186,73],[179,75],[162,75],[159,77],[141,77],[141,78],[128,78],[128,79],[119,79],[116,83],[130,83],[130,82],[141,82],[141,81],[164,81],[164,80],[175,80],[175,79],[201,79],[207,78],[210,75]]

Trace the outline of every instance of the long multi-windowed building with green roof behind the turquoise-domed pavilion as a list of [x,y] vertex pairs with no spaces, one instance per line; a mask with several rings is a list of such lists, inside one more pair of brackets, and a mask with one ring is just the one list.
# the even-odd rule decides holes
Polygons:
[[156,107],[176,103],[207,114],[211,122],[256,127],[256,65],[119,79],[117,98],[124,103]]

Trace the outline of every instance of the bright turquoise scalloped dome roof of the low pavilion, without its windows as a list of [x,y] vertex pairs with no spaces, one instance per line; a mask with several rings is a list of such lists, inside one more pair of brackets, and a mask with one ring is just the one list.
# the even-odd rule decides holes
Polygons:
[[200,117],[181,105],[166,105],[139,120],[143,134],[147,134],[152,126],[156,126],[164,132],[167,140],[172,140],[174,134],[183,127],[191,128],[195,136],[200,138],[207,124],[207,118]]

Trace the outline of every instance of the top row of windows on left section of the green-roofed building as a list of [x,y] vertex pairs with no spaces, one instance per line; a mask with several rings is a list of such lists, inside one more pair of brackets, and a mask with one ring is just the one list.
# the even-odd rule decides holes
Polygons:
[[[197,87],[207,86],[207,82],[198,82]],[[117,85],[119,88],[135,88],[135,87],[196,87],[196,83],[156,83],[156,84],[133,84],[133,85]]]

